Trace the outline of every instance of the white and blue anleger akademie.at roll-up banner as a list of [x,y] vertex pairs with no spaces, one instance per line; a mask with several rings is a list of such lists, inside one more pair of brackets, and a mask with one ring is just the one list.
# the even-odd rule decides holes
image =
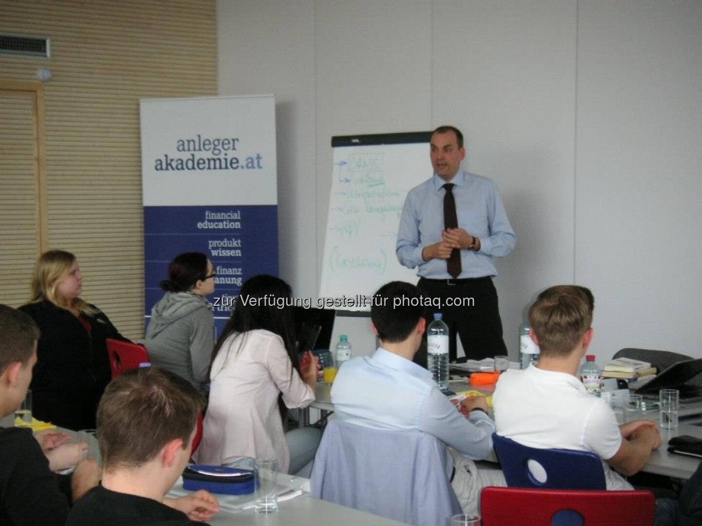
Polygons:
[[147,322],[171,259],[204,252],[220,334],[242,283],[278,274],[274,96],[144,99],[140,113]]

